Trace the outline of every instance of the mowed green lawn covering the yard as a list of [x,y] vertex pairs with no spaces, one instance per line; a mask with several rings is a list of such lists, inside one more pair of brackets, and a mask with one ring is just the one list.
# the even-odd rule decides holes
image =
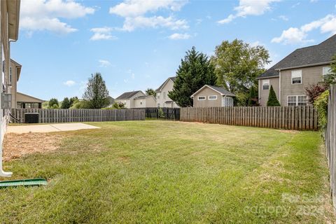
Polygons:
[[[146,120],[6,162],[0,223],[333,223],[318,132]],[[57,133],[59,134],[59,133]]]

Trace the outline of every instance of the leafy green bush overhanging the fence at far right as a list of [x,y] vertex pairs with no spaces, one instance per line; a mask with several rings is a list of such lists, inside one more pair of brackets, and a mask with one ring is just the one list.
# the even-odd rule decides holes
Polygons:
[[328,98],[329,90],[326,90],[316,97],[314,102],[314,107],[318,115],[318,125],[321,130],[325,130],[328,123]]

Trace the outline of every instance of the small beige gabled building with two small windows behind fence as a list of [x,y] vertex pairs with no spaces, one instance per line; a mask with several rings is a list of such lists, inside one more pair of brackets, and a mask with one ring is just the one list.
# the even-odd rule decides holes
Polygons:
[[194,107],[233,106],[233,97],[228,90],[213,85],[204,85],[193,95]]

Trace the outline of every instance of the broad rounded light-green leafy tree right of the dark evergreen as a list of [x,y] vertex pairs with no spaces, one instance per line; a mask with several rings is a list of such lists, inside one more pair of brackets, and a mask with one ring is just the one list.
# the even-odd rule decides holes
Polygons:
[[[216,67],[218,85],[232,93],[248,92],[253,85],[258,85],[257,77],[265,71],[269,64],[268,51],[260,46],[251,46],[244,41],[235,39],[223,41],[216,46],[211,61]],[[247,100],[241,104],[246,104]]]

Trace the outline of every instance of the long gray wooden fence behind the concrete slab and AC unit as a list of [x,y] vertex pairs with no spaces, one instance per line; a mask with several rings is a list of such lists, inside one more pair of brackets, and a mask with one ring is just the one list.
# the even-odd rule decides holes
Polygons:
[[10,122],[25,123],[25,113],[38,113],[39,123],[145,120],[144,110],[132,109],[11,109]]

